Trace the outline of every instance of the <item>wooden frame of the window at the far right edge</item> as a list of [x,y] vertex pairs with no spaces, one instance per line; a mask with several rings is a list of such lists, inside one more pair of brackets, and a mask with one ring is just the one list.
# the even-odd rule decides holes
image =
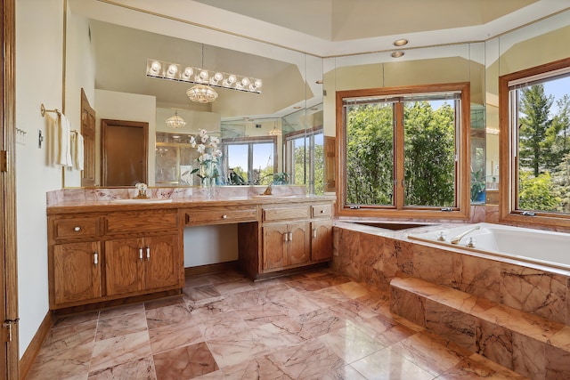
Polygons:
[[[570,228],[570,214],[557,214],[546,211],[525,213],[517,208],[518,200],[518,155],[515,134],[511,128],[511,102],[509,83],[524,78],[542,76],[556,77],[556,71],[570,68],[570,58],[545,63],[530,69],[522,69],[499,77],[499,222],[550,228]],[[551,76],[548,74],[552,73]],[[518,138],[517,138],[518,143]]]

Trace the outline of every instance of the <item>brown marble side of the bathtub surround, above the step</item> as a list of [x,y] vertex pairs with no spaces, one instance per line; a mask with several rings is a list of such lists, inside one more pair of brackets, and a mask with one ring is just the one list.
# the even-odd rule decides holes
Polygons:
[[[413,229],[445,229],[449,224]],[[407,238],[411,230],[381,230],[335,222],[332,267],[387,287],[398,274],[452,287],[570,326],[570,272],[518,263]]]

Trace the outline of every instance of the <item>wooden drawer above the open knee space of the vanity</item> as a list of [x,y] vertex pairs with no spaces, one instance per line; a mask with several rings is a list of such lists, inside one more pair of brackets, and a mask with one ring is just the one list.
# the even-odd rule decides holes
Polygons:
[[257,209],[239,207],[212,207],[208,211],[186,210],[186,225],[225,224],[236,222],[256,222]]

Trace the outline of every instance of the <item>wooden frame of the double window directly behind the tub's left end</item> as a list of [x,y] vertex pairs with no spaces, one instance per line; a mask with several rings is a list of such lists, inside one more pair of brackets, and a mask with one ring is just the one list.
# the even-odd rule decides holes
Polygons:
[[[346,120],[343,108],[345,98],[374,97],[374,96],[402,96],[413,93],[444,93],[460,92],[460,125],[456,136],[458,151],[458,165],[456,166],[455,193],[457,206],[455,207],[395,207],[366,206],[351,208],[346,205]],[[410,85],[400,87],[381,87],[372,89],[346,90],[337,92],[336,102],[337,117],[337,214],[339,216],[359,217],[387,217],[395,219],[426,219],[426,220],[458,220],[468,219],[470,215],[470,188],[469,188],[469,131],[470,131],[470,84],[468,82],[436,84],[436,85]],[[402,120],[396,120],[397,128],[402,128]],[[403,141],[395,136],[395,166],[403,166]],[[459,140],[459,141],[458,141]],[[396,170],[396,169],[395,169]],[[402,183],[398,181],[399,188]],[[403,200],[401,201],[403,203]],[[450,209],[451,208],[451,209]]]

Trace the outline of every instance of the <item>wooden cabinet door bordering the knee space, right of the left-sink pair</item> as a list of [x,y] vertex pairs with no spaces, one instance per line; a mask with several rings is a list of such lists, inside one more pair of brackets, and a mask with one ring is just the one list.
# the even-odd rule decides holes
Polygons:
[[146,289],[172,287],[180,282],[180,255],[176,235],[144,239],[144,285]]

